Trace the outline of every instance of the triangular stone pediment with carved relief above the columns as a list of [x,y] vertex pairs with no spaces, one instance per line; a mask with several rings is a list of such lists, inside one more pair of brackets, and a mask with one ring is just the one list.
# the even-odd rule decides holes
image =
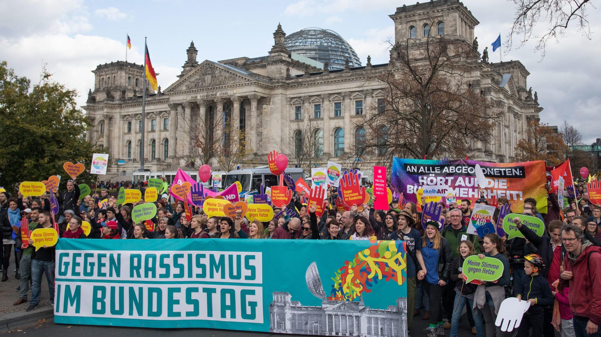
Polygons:
[[173,83],[165,92],[174,92],[182,90],[193,90],[211,88],[215,86],[231,85],[236,83],[251,82],[252,79],[237,74],[234,71],[213,65],[213,62],[205,61],[182,79]]

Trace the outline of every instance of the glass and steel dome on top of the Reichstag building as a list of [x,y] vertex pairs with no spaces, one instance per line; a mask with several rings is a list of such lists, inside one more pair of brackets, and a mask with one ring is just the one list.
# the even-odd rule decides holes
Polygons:
[[343,69],[346,60],[349,60],[350,67],[361,67],[361,61],[353,47],[331,29],[304,28],[287,35],[284,44],[289,52],[318,62],[328,62],[329,70]]

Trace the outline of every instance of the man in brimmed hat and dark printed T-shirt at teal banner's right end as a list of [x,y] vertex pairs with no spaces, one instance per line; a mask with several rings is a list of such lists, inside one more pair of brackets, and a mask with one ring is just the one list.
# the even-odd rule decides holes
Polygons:
[[[398,200],[397,200],[398,201]],[[394,201],[393,201],[394,202]],[[426,271],[424,258],[421,256],[421,237],[419,231],[413,228],[413,215],[408,210],[401,210],[397,217],[398,229],[391,234],[391,240],[405,240],[407,242],[407,308],[415,308],[418,271]],[[407,329],[413,324],[413,312],[407,311]]]

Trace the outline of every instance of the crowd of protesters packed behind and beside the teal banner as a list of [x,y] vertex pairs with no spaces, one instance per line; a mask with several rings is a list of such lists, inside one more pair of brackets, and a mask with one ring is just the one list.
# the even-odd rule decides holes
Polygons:
[[[121,186],[139,189],[142,197],[119,204],[118,193],[109,194],[109,189]],[[585,182],[575,182],[576,197],[567,198],[567,207],[558,203],[557,191],[548,185],[546,213],[538,212],[541,205],[534,198],[523,195],[523,218],[513,219],[523,237],[511,239],[496,233],[468,234],[475,204],[494,206],[495,224],[499,215],[511,213],[507,198],[484,198],[482,188],[475,202],[458,198],[450,205],[427,204],[423,196],[421,202],[403,203],[403,194],[395,193],[388,210],[376,210],[373,203],[347,206],[337,188],[329,186],[322,214],[316,212],[316,204],[308,206],[305,192],[297,191],[285,206],[271,206],[275,216],[266,222],[249,221],[242,210],[234,216],[208,216],[203,207],[163,191],[154,201],[156,216],[135,223],[132,209],[146,202],[147,186],[148,182],[102,182],[93,186],[98,193],[80,197],[74,179],[64,191],[54,188],[39,197],[0,192],[2,281],[7,281],[9,268],[15,268],[20,279],[14,305],[28,303],[26,311],[37,307],[43,275],[50,299],[54,297],[55,248],[35,251],[31,238],[23,242],[19,228],[26,220],[29,230],[58,227],[59,237],[66,239],[404,240],[409,330],[413,320],[423,319],[430,323],[427,336],[444,336],[450,330],[456,337],[465,308],[472,334],[511,336],[516,331],[502,331],[495,320],[501,302],[517,297],[529,303],[517,336],[554,336],[555,331],[562,337],[601,336],[601,205],[588,199]],[[58,203],[56,214],[50,212],[52,198]],[[423,222],[426,212],[430,220]],[[542,236],[522,224],[528,216],[544,222]],[[85,222],[90,224],[88,235],[82,228]],[[498,259],[502,275],[493,282],[466,282],[462,266],[472,255]]]

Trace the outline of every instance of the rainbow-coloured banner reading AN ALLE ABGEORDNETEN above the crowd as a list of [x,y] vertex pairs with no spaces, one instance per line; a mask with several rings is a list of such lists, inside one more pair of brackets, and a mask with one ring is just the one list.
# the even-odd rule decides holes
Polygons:
[[[525,163],[488,163],[474,160],[418,160],[394,158],[392,160],[392,191],[404,194],[403,202],[421,203],[424,187],[448,186],[447,193],[454,194],[457,202],[480,198],[478,179],[474,172],[480,164],[486,177],[487,187],[484,197],[487,200],[507,198],[512,212],[522,212],[524,199],[531,197],[537,201],[540,213],[547,212],[547,191],[545,189],[546,170],[544,161]],[[419,197],[418,197],[419,196]],[[444,197],[439,200],[444,201]],[[428,200],[429,199],[429,200]]]

